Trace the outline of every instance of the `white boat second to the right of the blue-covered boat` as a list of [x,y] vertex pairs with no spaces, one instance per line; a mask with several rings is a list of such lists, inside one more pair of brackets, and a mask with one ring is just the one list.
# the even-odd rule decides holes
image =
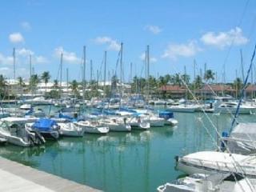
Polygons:
[[81,127],[85,133],[89,134],[107,134],[110,131],[108,126],[105,126],[96,120],[74,122],[74,125]]

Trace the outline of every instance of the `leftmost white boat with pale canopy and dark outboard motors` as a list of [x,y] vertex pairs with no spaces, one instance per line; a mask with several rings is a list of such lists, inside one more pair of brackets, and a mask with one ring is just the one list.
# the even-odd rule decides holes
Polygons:
[[0,120],[0,137],[15,146],[38,146],[45,139],[38,131],[28,130],[26,118],[2,118]]

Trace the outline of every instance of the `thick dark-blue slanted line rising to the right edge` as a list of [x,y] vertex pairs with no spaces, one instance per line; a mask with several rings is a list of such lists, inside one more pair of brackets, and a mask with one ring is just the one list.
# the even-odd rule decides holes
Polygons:
[[250,70],[251,70],[252,67],[253,67],[255,52],[256,52],[256,44],[255,44],[255,46],[254,46],[253,55],[252,55],[252,57],[251,57],[251,59],[250,59],[250,66],[249,66],[249,69],[247,70],[246,79],[245,79],[245,81],[243,82],[243,87],[242,87],[241,94],[240,94],[240,95],[241,95],[241,98],[239,99],[239,102],[238,102],[238,108],[237,108],[237,110],[235,111],[234,118],[233,118],[233,121],[232,121],[232,123],[231,123],[230,133],[231,133],[231,131],[232,131],[233,128],[234,128],[234,122],[236,122],[236,119],[238,118],[240,106],[241,106],[241,103],[242,103],[242,98],[244,97],[245,90],[246,90],[246,85],[247,85],[247,82],[248,82],[248,78],[249,78],[249,76],[250,76]]

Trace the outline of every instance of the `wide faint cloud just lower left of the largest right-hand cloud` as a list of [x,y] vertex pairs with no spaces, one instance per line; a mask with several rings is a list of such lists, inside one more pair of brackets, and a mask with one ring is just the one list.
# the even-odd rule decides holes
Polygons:
[[171,58],[177,59],[178,57],[191,57],[197,54],[202,49],[198,46],[196,41],[190,41],[186,44],[170,44],[164,54],[162,54],[162,58]]

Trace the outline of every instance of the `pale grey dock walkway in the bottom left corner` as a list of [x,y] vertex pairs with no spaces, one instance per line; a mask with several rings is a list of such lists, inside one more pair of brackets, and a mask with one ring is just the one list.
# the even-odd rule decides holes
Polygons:
[[0,191],[94,192],[100,190],[0,157]]

